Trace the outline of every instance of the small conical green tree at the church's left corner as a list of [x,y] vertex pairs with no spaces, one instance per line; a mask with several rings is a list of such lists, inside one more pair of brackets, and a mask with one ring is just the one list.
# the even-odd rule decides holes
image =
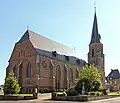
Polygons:
[[5,94],[16,94],[20,92],[20,86],[18,84],[18,81],[16,77],[14,76],[14,73],[9,73],[7,77],[5,78],[4,83],[4,93]]

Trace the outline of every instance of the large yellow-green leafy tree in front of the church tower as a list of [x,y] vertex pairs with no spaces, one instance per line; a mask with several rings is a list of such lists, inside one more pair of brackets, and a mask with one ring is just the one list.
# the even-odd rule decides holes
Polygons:
[[80,74],[80,80],[75,87],[75,89],[79,93],[81,93],[82,91],[83,83],[86,92],[89,92],[91,90],[97,91],[103,88],[100,74],[97,68],[94,67],[94,65],[90,65],[90,66],[86,65],[85,67],[82,68],[82,72]]

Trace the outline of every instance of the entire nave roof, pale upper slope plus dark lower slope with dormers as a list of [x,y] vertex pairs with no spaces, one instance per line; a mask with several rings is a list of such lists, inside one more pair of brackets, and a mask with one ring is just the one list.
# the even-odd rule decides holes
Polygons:
[[[78,64],[81,66],[86,65],[86,62],[82,59],[75,57],[75,52],[72,48],[50,40],[42,35],[39,35],[33,31],[27,30],[19,40],[20,42],[30,40],[34,48],[39,54],[44,54],[51,58],[56,58],[61,61],[68,61],[72,64]],[[55,55],[56,56],[55,56]]]

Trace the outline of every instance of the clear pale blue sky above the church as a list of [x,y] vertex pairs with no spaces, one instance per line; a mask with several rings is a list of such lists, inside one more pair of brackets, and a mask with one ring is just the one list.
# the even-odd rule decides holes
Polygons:
[[[106,75],[119,69],[120,0],[96,0]],[[87,61],[94,18],[94,0],[0,0],[0,84],[15,43],[27,30],[75,48]]]

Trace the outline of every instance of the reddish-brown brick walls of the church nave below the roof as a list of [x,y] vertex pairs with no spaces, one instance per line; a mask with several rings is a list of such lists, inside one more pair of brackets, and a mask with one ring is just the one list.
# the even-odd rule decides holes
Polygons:
[[[28,63],[31,64],[30,77],[26,77]],[[9,72],[15,73],[23,92],[32,92],[37,85],[39,85],[39,88],[50,88],[54,90],[69,88],[73,85],[74,80],[78,78],[81,67],[70,64],[67,61],[63,62],[36,53],[33,45],[28,40],[15,44],[7,71],[9,70]],[[59,77],[56,77],[56,68],[60,69],[61,75]],[[40,76],[39,80],[37,74]],[[57,81],[60,83],[56,84]]]

